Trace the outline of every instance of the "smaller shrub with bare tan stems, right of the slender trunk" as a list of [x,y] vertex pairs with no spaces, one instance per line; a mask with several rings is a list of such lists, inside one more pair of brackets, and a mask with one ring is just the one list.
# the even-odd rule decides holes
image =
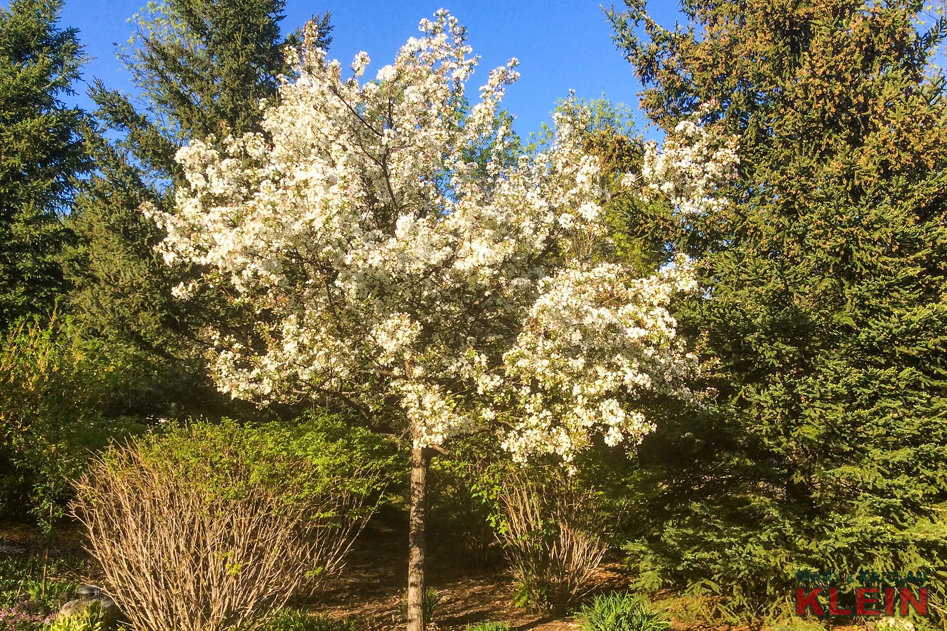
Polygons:
[[509,475],[499,493],[506,522],[500,540],[522,605],[563,611],[591,587],[608,546],[591,532],[592,492],[561,470]]

